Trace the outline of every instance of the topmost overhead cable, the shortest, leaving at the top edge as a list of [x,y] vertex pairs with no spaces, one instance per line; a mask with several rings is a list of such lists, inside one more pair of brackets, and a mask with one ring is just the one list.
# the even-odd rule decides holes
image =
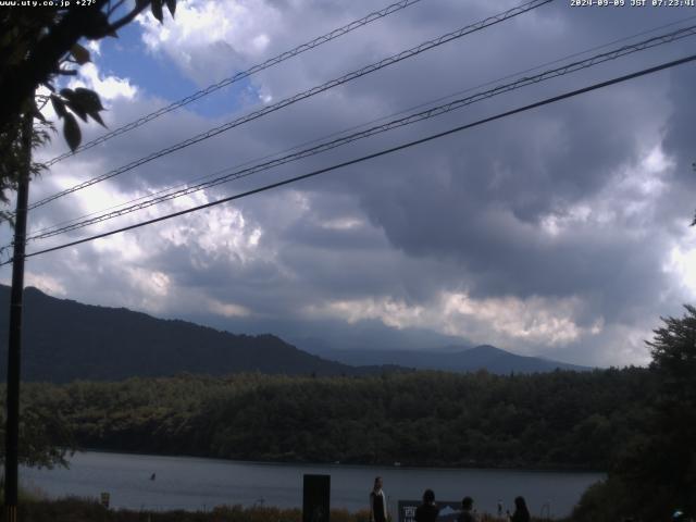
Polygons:
[[413,5],[414,3],[420,2],[421,0],[401,0],[399,2],[393,3],[390,5],[387,5],[384,9],[381,9],[380,11],[374,11],[370,14],[368,14],[366,16],[363,16],[360,20],[355,20],[352,22],[350,22],[349,24],[344,25],[343,27],[338,27],[334,30],[332,30],[331,33],[326,33],[325,35],[319,36],[316,38],[314,38],[313,40],[310,40],[308,42],[304,42],[300,46],[297,46],[295,49],[290,49],[289,51],[284,51],[281,54],[270,58],[269,60],[266,60],[263,63],[259,63],[257,65],[252,65],[251,67],[247,69],[246,71],[241,71],[239,73],[236,73],[227,78],[221,79],[220,82],[217,82],[216,84],[212,84],[209,85],[208,87],[206,87],[204,89],[200,89],[196,92],[194,92],[192,95],[187,96],[186,98],[182,98],[178,101],[175,101],[173,103],[170,103],[166,107],[163,107],[161,109],[158,109],[154,112],[151,112],[149,114],[146,114],[144,116],[138,117],[137,120],[123,125],[119,128],[115,128],[113,130],[111,130],[110,133],[107,133],[102,136],[99,136],[96,139],[92,139],[91,141],[87,141],[86,144],[77,147],[74,151],[72,152],[65,152],[63,154],[57,156],[55,158],[47,161],[46,163],[44,163],[46,166],[50,166],[54,163],[58,163],[59,161],[64,160],[65,158],[70,158],[71,156],[75,156],[84,150],[87,149],[91,149],[92,147],[103,144],[104,141],[110,140],[111,138],[114,138],[116,136],[120,136],[124,133],[127,133],[129,130],[133,130],[134,128],[137,128],[141,125],[145,125],[148,122],[151,122],[152,120],[156,120],[160,116],[163,116],[164,114],[175,111],[176,109],[179,109],[181,107],[187,105],[200,98],[203,98],[204,96],[208,96],[212,92],[215,92],[216,90],[220,90],[224,87],[227,87],[236,82],[239,82],[241,79],[248,78],[249,76],[251,76],[252,74],[259,73],[263,70],[266,70],[269,67],[272,67],[274,65],[277,65],[281,62],[284,62],[286,60],[289,60],[290,58],[297,57],[298,54],[301,54],[306,51],[309,51],[311,49],[314,49],[315,47],[322,46],[323,44],[326,44],[328,41],[335,40],[336,38],[339,38],[352,30],[356,30],[364,25],[368,25],[376,20],[381,20],[385,16],[388,16],[389,14],[396,13],[397,11],[401,11],[402,9],[406,9],[410,5]]

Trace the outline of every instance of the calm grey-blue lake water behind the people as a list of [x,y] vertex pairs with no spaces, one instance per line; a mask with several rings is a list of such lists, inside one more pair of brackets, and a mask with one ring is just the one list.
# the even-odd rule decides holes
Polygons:
[[460,500],[469,495],[478,511],[488,512],[495,511],[498,499],[509,507],[515,496],[522,495],[533,513],[538,514],[548,504],[556,517],[568,514],[585,488],[605,476],[518,470],[290,465],[86,451],[73,456],[69,470],[23,468],[20,481],[50,497],[98,497],[101,492],[109,492],[114,508],[209,510],[223,504],[294,508],[302,505],[302,476],[314,473],[331,475],[332,507],[350,511],[366,508],[373,480],[381,475],[394,514],[398,500],[419,499],[430,487],[440,500]]

